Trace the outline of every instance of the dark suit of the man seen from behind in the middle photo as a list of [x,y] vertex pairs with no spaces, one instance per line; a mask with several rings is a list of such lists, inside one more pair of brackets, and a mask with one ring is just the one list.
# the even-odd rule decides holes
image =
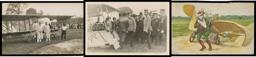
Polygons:
[[119,19],[117,19],[116,21],[116,25],[115,25],[117,28],[117,34],[120,38],[120,47],[123,48],[124,46],[124,39],[125,39],[125,35],[126,35],[126,32],[128,30],[128,27],[130,26],[129,25],[129,22],[128,22],[128,18],[125,18],[125,17],[121,17]]

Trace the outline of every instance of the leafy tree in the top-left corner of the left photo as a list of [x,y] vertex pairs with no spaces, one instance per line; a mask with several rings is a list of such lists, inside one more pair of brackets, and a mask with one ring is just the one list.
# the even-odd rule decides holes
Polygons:
[[9,3],[5,14],[20,15],[23,12],[23,9],[28,7],[28,3]]

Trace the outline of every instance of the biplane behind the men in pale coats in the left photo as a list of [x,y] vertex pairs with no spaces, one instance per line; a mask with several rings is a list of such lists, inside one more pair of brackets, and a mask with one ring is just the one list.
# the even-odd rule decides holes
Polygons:
[[[2,24],[2,42],[4,41],[3,38],[9,36],[9,35],[23,35],[22,38],[20,38],[20,40],[22,41],[22,39],[24,38],[24,36],[27,34],[32,34],[32,36],[28,36],[28,42],[32,42],[32,41],[36,41],[35,38],[35,34],[33,34],[33,32],[35,32],[35,30],[33,30],[33,28],[31,27],[32,24],[30,24],[30,20],[32,18],[36,18],[35,21],[37,22],[41,22],[41,25],[45,25],[45,22],[50,22],[50,26],[52,25],[52,22],[57,22],[58,21],[62,21],[62,23],[69,23],[71,17],[73,16],[50,16],[50,15],[2,15],[2,21],[6,22],[7,21],[16,21],[14,23],[11,22],[11,26],[9,25],[4,25]],[[26,23],[24,22],[25,25],[25,30],[24,31],[20,31],[20,24],[19,24],[19,31],[17,31],[13,25],[15,23],[20,23],[20,21],[25,21],[28,20],[28,24],[27,26],[29,26],[29,30],[26,28]],[[33,20],[33,19],[32,19]],[[64,21],[65,20],[65,21]],[[68,20],[68,21],[67,21]],[[63,22],[64,21],[64,22]],[[33,21],[34,23],[34,21]],[[56,33],[56,31],[61,30],[61,29],[51,29],[51,39],[56,39],[59,38],[59,35]],[[54,33],[52,33],[54,32]]]

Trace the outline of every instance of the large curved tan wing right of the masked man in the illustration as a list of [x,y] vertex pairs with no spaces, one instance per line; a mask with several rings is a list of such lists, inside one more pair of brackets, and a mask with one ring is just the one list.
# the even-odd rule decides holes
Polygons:
[[[226,31],[234,31],[234,32],[237,32],[237,33],[245,33],[244,42],[242,44],[243,47],[248,46],[252,41],[251,32],[247,28],[245,28],[244,26],[242,26],[240,24],[237,24],[236,22],[214,21],[214,22],[212,22],[211,30],[213,30],[214,32],[218,32],[218,33],[226,32]],[[233,35],[233,36],[235,36],[235,35]],[[238,34],[238,36],[240,36],[240,35]]]

